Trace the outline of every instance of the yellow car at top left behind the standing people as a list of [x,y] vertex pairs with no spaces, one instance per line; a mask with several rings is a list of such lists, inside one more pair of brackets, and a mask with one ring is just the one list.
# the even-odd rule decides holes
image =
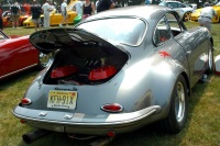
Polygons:
[[[69,4],[67,5],[67,13],[68,13],[68,24],[74,23],[74,19],[77,16],[77,13],[73,11],[74,4],[77,0],[72,0]],[[56,10],[52,11],[51,14],[51,25],[58,25],[61,24],[63,16],[62,13],[56,13]],[[41,25],[44,23],[44,15],[41,14]],[[34,26],[34,23],[32,22],[32,16],[29,16],[24,22],[23,25],[26,27]]]

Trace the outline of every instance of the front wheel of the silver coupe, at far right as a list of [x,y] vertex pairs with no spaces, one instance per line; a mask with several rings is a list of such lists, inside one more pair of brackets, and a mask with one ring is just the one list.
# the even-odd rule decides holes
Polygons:
[[207,65],[207,71],[206,74],[212,74],[215,70],[215,61],[213,61],[213,48],[211,43],[209,44],[208,48],[208,65]]

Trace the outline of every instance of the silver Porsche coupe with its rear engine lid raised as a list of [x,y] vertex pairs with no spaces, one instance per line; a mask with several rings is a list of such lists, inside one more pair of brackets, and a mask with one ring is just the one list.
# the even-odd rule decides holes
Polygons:
[[191,88],[213,69],[213,40],[186,29],[174,10],[119,8],[73,29],[35,32],[30,42],[54,61],[32,82],[13,114],[45,132],[113,137],[162,121],[178,133]]

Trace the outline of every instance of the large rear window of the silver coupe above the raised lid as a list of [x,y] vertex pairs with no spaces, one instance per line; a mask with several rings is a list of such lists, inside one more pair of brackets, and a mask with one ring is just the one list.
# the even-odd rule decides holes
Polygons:
[[107,41],[136,46],[143,41],[146,23],[140,19],[105,19],[82,23],[77,29],[84,29]]

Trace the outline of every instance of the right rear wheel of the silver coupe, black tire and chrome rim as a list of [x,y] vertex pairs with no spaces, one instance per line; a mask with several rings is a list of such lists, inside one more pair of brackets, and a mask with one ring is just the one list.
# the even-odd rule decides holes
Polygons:
[[162,128],[169,134],[179,133],[187,121],[188,93],[185,78],[180,75],[173,89],[167,117],[162,122]]

